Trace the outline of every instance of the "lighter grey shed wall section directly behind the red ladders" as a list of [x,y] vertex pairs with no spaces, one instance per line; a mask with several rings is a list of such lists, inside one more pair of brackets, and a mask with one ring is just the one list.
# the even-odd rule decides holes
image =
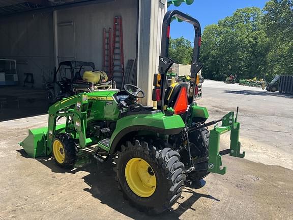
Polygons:
[[103,28],[113,29],[114,16],[122,16],[123,20],[126,66],[128,59],[136,58],[137,0],[93,4],[57,11],[58,56],[91,61],[97,69],[102,70]]

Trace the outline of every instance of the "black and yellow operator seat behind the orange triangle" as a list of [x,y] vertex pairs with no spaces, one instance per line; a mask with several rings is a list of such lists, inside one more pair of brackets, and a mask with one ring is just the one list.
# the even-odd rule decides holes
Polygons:
[[175,82],[170,85],[165,92],[164,108],[174,107],[176,100],[179,98],[181,89],[185,87],[188,91],[188,85],[186,82]]

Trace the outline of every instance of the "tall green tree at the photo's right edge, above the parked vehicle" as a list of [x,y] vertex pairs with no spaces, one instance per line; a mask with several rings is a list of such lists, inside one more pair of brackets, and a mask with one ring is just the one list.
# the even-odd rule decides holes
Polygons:
[[293,1],[271,0],[263,9],[262,24],[269,38],[267,78],[293,74]]

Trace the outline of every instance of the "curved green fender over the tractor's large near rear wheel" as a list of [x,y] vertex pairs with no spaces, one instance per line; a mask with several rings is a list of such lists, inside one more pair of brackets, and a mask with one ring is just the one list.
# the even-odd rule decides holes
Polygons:
[[109,153],[114,153],[123,137],[134,131],[151,131],[160,134],[178,134],[185,127],[179,115],[165,116],[163,113],[140,114],[123,117],[117,121],[111,136]]

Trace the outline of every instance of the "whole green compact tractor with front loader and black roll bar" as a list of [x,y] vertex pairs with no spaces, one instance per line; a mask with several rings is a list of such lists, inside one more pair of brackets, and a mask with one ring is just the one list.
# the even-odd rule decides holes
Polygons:
[[[194,26],[194,42],[198,43],[194,44],[189,86],[177,82],[166,88],[166,73],[173,64],[168,58],[173,16]],[[121,91],[80,93],[50,106],[48,126],[30,129],[20,146],[34,158],[52,155],[62,168],[113,159],[124,197],[150,214],[169,209],[185,185],[192,187],[209,173],[225,174],[222,155],[244,157],[244,152],[240,153],[240,123],[234,112],[207,122],[207,108],[194,103],[197,73],[202,68],[197,61],[199,22],[182,12],[169,11],[162,36],[153,90],[157,108],[138,103],[145,93],[133,85],[125,85]],[[66,122],[57,124],[61,117]],[[211,125],[214,127],[209,131]],[[220,135],[228,131],[230,148],[219,151]]]

